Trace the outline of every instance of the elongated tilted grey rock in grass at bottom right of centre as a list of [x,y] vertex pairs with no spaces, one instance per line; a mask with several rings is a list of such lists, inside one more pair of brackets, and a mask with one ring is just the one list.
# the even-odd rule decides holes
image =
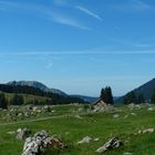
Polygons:
[[122,145],[123,145],[123,143],[121,142],[121,140],[118,137],[114,137],[114,138],[110,140],[108,142],[106,142],[102,147],[97,148],[96,152],[104,153],[108,149],[118,148]]

